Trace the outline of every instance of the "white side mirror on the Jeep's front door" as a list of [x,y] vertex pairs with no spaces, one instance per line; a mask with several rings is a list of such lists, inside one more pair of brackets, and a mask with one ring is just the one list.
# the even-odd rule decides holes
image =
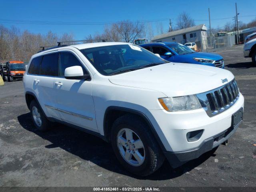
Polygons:
[[87,80],[90,75],[84,74],[81,66],[72,66],[65,69],[64,77],[66,79]]

